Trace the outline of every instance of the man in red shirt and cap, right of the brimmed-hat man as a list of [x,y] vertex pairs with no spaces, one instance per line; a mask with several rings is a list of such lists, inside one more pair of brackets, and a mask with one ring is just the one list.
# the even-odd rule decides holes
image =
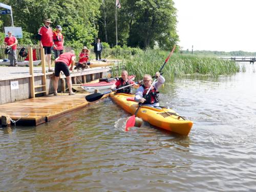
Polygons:
[[55,54],[55,59],[59,57],[63,53],[63,44],[64,44],[64,38],[61,34],[61,26],[57,25],[56,30],[53,31],[53,49]]

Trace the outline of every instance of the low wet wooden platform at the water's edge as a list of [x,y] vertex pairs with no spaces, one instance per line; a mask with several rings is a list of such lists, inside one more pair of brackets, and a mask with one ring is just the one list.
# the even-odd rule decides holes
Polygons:
[[[38,125],[86,107],[89,102],[84,97],[88,94],[68,95],[67,93],[62,93],[57,96],[46,95],[1,104],[0,117],[8,116],[17,121],[17,125]],[[108,97],[108,94],[105,94],[102,98],[105,97]],[[3,125],[1,118],[0,122]]]

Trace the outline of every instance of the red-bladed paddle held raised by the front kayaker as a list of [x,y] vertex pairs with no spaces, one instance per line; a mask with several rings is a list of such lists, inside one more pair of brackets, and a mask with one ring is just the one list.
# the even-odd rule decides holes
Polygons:
[[[174,50],[175,50],[175,47],[176,47],[176,45],[174,46],[173,50],[169,53],[168,57],[165,59],[165,61],[164,61],[163,65],[162,65],[162,67],[161,67],[160,70],[159,70],[159,73],[160,73],[160,74],[161,74],[161,72],[162,72],[162,70],[163,70],[165,64],[168,62],[170,56],[173,54],[173,52],[174,52]],[[157,80],[157,79],[155,79],[155,80],[153,81],[153,83],[151,84],[150,89],[148,89],[148,91],[146,92],[146,95],[145,95],[145,96],[147,96],[147,94],[148,94],[148,93],[150,92],[150,90],[153,88],[153,84],[155,83],[156,80]],[[144,96],[144,97],[145,97],[145,96]],[[134,115],[132,115],[131,117],[129,117],[129,119],[126,121],[126,124],[125,124],[125,131],[129,131],[129,127],[132,127],[132,126],[135,125],[135,117],[136,117],[136,115],[137,115],[137,113],[138,113],[138,111],[139,111],[139,109],[140,109],[142,103],[139,103],[138,105],[139,105],[139,106],[138,106],[136,112],[134,113]]]

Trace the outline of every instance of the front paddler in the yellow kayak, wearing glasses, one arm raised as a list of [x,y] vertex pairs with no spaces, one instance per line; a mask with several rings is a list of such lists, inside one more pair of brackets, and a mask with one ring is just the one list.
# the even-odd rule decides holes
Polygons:
[[139,87],[139,89],[135,93],[134,100],[142,103],[147,106],[159,106],[158,99],[158,88],[164,83],[165,79],[159,72],[156,72],[157,81],[153,84],[153,88],[146,95],[148,89],[150,89],[152,85],[152,77],[151,75],[144,75],[143,84]]

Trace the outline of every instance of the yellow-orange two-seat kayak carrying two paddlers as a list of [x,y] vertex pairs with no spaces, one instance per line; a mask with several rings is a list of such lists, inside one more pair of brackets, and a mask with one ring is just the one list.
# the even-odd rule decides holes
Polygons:
[[[136,112],[138,108],[138,103],[132,101],[135,95],[118,93],[110,94],[110,97],[120,105],[125,111],[131,113],[132,115]],[[193,122],[183,119],[175,111],[171,109],[156,109],[150,106],[141,106],[137,117],[140,117],[144,121],[149,122],[161,129],[168,130],[171,132],[178,133],[180,135],[188,135]]]

